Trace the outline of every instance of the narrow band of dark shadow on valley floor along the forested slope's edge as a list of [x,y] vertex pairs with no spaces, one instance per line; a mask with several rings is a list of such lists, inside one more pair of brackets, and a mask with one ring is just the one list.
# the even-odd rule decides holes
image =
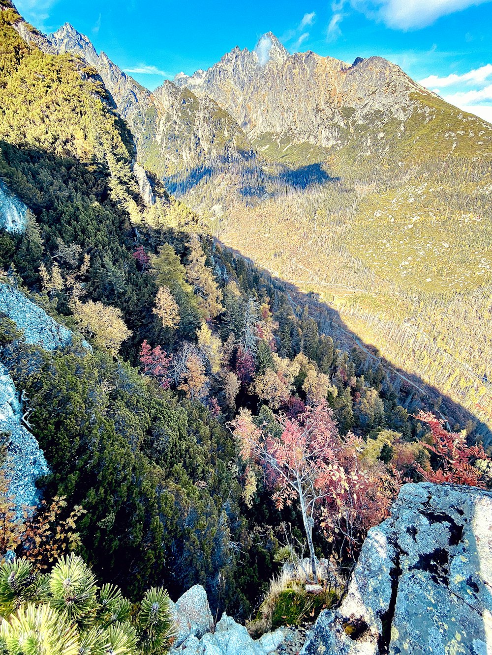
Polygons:
[[[388,377],[396,391],[400,404],[409,412],[415,413],[419,409],[431,411],[440,419],[447,423],[447,428],[451,430],[461,430],[468,421],[472,421],[475,428],[472,432],[472,438],[481,440],[485,447],[492,445],[492,432],[480,418],[474,415],[465,407],[455,402],[446,394],[443,394],[438,388],[423,381],[415,373],[409,373],[401,369],[392,362],[386,360],[380,355],[377,348],[369,343],[365,343],[344,320],[336,309],[320,301],[318,293],[310,291],[305,293],[295,284],[281,280],[262,267],[256,265],[247,255],[244,255],[235,248],[226,246],[219,240],[216,240],[222,248],[230,250],[236,257],[242,257],[249,266],[260,271],[262,276],[268,278],[274,288],[286,293],[295,314],[299,317],[304,308],[307,307],[311,318],[316,320],[320,334],[328,335],[333,339],[335,346],[341,350],[352,350],[359,348],[365,353],[367,368],[381,364],[388,373]],[[439,409],[436,410],[434,404],[441,398]]]

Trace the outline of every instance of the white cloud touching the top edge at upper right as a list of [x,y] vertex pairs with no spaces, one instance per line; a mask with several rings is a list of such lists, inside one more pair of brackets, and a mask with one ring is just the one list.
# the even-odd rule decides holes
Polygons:
[[441,16],[447,16],[468,7],[492,0],[350,0],[354,9],[368,18],[382,20],[388,28],[419,29],[432,25]]

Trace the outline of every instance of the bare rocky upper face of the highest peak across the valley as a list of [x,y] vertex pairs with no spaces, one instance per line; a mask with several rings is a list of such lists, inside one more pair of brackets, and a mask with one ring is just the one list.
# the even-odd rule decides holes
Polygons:
[[289,55],[268,33],[255,50],[234,48],[207,71],[174,83],[209,96],[255,139],[266,132],[331,147],[350,137],[351,122],[407,118],[413,94],[431,95],[380,57],[346,64],[314,52]]

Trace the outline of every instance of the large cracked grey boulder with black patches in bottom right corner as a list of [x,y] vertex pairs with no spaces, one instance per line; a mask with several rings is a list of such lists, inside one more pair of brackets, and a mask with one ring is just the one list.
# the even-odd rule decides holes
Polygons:
[[[301,655],[492,652],[492,493],[409,484]],[[488,641],[487,641],[488,636]]]

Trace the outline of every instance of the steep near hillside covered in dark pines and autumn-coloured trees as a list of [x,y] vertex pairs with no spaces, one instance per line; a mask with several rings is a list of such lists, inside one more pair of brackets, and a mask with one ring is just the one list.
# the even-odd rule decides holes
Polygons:
[[[75,511],[73,544],[102,583],[133,600],[200,583],[214,610],[252,616],[304,540],[311,561],[350,568],[403,479],[485,485],[485,453],[421,415],[420,395],[394,386],[378,358],[321,335],[278,280],[216,242],[158,181],[146,204],[102,79],[72,54],[28,45],[17,12],[1,9],[0,176],[28,212],[1,232],[0,283],[91,350],[27,343],[3,314],[0,360],[51,470],[45,503],[64,496],[62,511]],[[276,462],[292,481],[299,449],[316,474],[309,517],[295,479],[272,473]],[[3,552],[37,557],[8,474]]]

